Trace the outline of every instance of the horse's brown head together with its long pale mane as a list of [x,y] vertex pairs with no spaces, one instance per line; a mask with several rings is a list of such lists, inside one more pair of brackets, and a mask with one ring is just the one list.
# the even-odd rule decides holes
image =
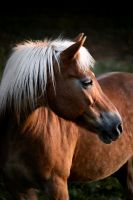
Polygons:
[[[105,143],[122,132],[121,117],[103,94],[91,70],[94,60],[80,34],[69,40],[30,41],[17,45],[0,85],[0,110],[20,119],[48,105],[57,115],[99,134]],[[21,115],[21,116],[20,116]]]

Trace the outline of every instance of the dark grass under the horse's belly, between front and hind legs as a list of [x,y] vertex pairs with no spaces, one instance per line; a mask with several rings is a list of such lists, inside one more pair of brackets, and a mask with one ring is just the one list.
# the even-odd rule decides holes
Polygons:
[[92,183],[70,183],[69,188],[72,200],[124,200],[121,185],[112,177]]

